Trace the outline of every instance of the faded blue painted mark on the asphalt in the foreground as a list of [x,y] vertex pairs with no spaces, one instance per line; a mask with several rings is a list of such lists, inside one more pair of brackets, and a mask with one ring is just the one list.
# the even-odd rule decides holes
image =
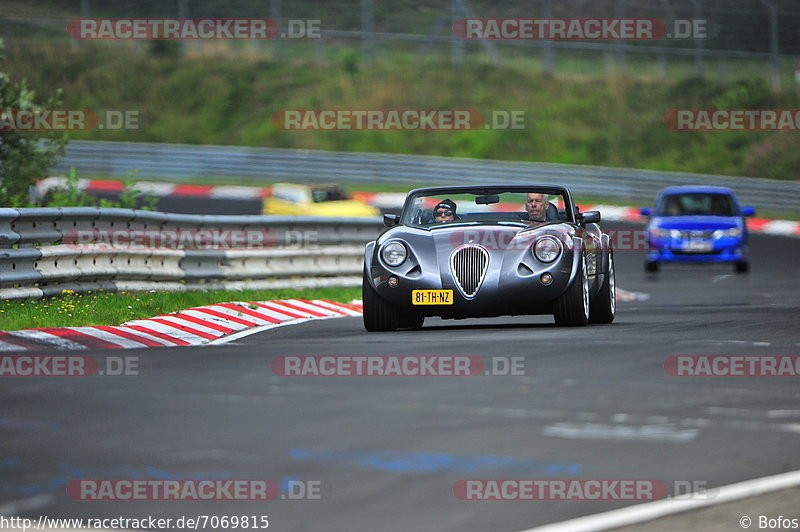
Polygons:
[[395,473],[538,473],[548,475],[576,475],[580,464],[552,463],[534,458],[485,454],[464,456],[448,453],[335,450],[329,448],[292,449],[289,456],[295,460],[356,465]]

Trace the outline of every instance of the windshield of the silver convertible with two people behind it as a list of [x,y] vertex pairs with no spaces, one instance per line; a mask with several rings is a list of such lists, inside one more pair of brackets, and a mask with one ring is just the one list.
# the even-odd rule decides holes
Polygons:
[[402,223],[422,227],[463,223],[517,223],[538,225],[569,221],[565,199],[536,192],[415,194],[403,211]]

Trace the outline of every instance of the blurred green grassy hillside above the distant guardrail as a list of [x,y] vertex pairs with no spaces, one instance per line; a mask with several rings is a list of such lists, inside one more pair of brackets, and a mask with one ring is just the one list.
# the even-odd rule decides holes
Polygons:
[[[156,50],[157,51],[157,50]],[[319,62],[274,62],[243,53],[178,58],[152,46],[82,44],[9,48],[3,69],[31,88],[64,89],[67,108],[138,110],[135,131],[93,130],[71,139],[231,144],[597,164],[775,179],[800,177],[800,139],[789,132],[676,132],[674,108],[800,108],[800,93],[760,80],[545,76],[513,67],[363,63],[350,52]],[[35,65],[35,68],[32,66]],[[520,130],[283,131],[284,109],[524,111]]]

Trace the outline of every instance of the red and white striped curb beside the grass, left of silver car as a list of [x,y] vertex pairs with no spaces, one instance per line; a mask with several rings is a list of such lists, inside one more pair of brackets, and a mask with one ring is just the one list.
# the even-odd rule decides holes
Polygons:
[[0,331],[0,351],[135,349],[232,341],[237,333],[309,320],[360,316],[361,305],[326,299],[217,303],[118,326],[50,327]]

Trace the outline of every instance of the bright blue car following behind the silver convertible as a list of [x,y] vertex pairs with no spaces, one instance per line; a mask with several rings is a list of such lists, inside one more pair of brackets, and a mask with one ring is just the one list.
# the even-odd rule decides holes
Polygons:
[[747,273],[747,224],[753,207],[740,207],[732,190],[724,187],[680,186],[662,190],[650,217],[650,252],[645,270],[657,272],[664,262],[727,262],[737,273]]

